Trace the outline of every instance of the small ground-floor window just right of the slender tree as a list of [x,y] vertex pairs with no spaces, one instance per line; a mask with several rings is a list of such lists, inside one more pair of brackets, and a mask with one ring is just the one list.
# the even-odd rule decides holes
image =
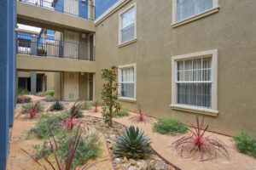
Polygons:
[[136,65],[119,66],[120,99],[136,99]]

